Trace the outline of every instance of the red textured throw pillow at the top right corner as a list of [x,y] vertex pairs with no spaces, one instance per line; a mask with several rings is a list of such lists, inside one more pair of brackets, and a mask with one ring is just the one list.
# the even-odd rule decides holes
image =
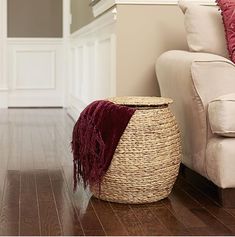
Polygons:
[[235,0],[216,0],[223,17],[230,59],[235,63]]

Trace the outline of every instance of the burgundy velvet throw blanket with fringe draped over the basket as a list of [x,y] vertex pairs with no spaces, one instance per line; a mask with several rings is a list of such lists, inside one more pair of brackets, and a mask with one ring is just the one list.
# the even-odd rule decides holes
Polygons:
[[101,184],[135,109],[100,100],[81,113],[73,129],[74,188]]

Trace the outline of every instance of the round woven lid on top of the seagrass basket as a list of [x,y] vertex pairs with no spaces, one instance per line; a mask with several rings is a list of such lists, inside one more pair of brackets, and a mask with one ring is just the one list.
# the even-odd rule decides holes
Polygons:
[[114,104],[129,105],[129,106],[160,106],[173,103],[170,98],[155,97],[155,96],[121,96],[111,97],[107,99]]

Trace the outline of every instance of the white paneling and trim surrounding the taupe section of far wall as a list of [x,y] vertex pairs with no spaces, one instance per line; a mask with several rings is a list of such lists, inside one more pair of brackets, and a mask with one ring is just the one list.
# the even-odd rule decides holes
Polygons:
[[67,106],[70,0],[63,0],[62,38],[7,38],[7,0],[0,0],[0,108]]

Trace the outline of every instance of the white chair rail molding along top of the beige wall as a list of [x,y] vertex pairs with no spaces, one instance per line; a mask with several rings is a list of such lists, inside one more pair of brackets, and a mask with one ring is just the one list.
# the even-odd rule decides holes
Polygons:
[[[188,2],[197,2],[203,5],[215,5],[214,0],[188,0]],[[178,4],[178,0],[100,0],[94,6],[92,6],[93,14],[95,17],[97,17],[117,4],[176,5]]]

